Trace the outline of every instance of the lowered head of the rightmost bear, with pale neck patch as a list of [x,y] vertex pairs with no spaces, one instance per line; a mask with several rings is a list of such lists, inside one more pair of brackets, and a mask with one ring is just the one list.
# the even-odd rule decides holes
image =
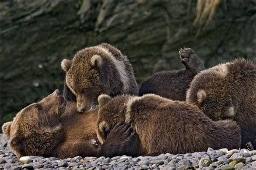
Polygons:
[[203,70],[187,90],[186,101],[197,105],[213,121],[233,119],[237,101],[232,94],[232,76],[225,64]]

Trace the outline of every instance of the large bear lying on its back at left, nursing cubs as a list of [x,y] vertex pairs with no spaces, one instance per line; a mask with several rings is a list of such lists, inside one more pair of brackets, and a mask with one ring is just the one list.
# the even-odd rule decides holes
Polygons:
[[37,155],[64,159],[77,155],[113,157],[127,154],[125,149],[137,140],[136,133],[129,125],[119,124],[100,146],[96,134],[97,115],[98,108],[77,114],[76,103],[65,102],[56,90],[19,111],[2,129],[10,138],[8,145],[17,157]]

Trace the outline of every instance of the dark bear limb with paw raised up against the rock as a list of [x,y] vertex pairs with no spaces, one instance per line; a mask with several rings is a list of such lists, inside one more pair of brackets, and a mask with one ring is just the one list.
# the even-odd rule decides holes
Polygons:
[[204,70],[203,61],[191,48],[180,49],[181,62],[185,69],[164,71],[154,74],[142,83],[139,96],[157,94],[171,100],[185,101],[186,90],[193,77]]

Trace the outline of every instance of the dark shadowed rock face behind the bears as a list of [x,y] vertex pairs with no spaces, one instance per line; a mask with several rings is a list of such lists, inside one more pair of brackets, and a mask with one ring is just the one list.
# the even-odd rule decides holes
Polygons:
[[191,47],[206,68],[256,61],[256,1],[0,1],[0,125],[55,89],[62,59],[107,42],[125,54],[137,82],[183,68]]

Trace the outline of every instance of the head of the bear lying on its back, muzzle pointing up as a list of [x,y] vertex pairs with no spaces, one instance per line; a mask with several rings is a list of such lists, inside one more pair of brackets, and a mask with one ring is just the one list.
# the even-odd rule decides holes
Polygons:
[[[9,125],[8,145],[17,157],[23,155],[51,155],[53,147],[61,140],[62,126],[59,117],[65,108],[65,100],[58,90],[42,101],[30,104],[15,116]],[[3,126],[4,127],[4,126]]]

